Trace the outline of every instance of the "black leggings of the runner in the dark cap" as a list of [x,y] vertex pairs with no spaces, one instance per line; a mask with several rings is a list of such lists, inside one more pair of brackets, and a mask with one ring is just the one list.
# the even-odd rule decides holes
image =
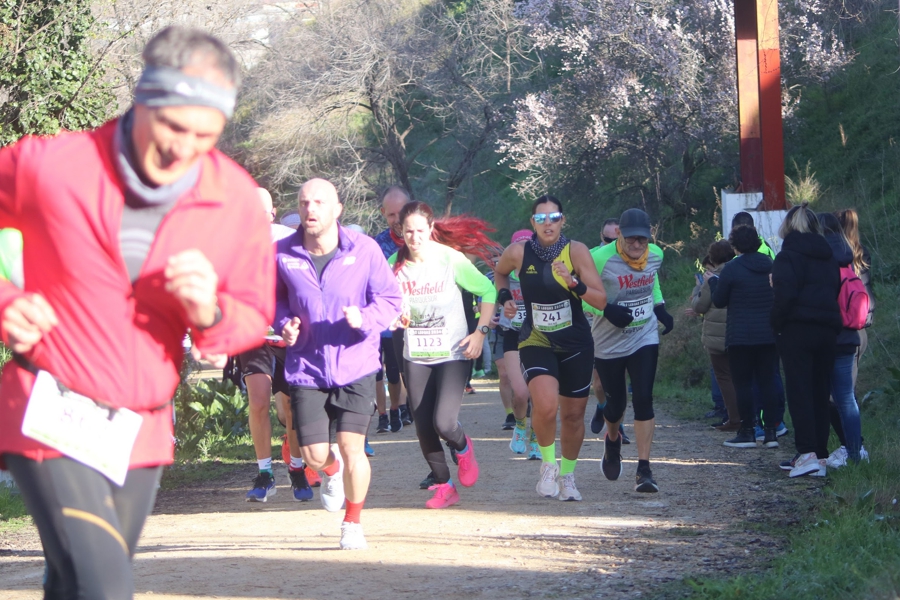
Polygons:
[[606,394],[603,416],[610,423],[618,423],[625,416],[628,387],[625,371],[631,378],[631,405],[635,421],[650,421],[653,413],[653,380],[656,379],[656,361],[659,344],[643,346],[628,356],[620,358],[595,358],[594,368]]

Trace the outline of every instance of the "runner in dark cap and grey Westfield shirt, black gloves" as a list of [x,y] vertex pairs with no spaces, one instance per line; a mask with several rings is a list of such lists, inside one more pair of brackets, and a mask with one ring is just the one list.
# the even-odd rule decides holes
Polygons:
[[[634,434],[638,447],[635,491],[658,492],[650,470],[650,445],[656,424],[653,414],[653,380],[659,357],[657,323],[665,325],[663,335],[672,330],[674,320],[666,312],[657,272],[663,252],[650,243],[650,217],[630,208],[619,218],[619,237],[592,253],[596,271],[604,286],[608,304],[594,317],[594,366],[606,394],[603,418],[606,441],[600,467],[609,480],[622,474],[622,436],[619,423],[625,415],[631,379],[634,407]],[[592,311],[593,312],[593,311]]]

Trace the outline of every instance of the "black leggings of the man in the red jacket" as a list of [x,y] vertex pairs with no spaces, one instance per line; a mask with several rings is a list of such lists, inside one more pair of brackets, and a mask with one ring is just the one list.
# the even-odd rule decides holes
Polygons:
[[118,487],[70,458],[3,459],[41,536],[44,598],[131,598],[131,557],[156,500],[162,467],[132,469]]

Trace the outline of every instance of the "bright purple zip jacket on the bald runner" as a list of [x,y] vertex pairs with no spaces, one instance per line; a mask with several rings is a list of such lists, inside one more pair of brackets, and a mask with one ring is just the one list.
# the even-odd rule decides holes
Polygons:
[[[275,245],[275,332],[300,317],[300,335],[284,360],[292,385],[342,387],[378,371],[381,332],[400,315],[400,288],[378,244],[343,227],[339,235],[321,283],[303,247],[302,229]],[[359,307],[360,329],[347,324],[345,306]]]

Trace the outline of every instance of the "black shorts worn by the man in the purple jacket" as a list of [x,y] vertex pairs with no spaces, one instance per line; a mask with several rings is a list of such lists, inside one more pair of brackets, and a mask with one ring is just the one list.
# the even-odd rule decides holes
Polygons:
[[375,373],[339,388],[292,385],[291,410],[301,446],[327,444],[331,421],[337,423],[338,432],[366,435],[375,412]]

